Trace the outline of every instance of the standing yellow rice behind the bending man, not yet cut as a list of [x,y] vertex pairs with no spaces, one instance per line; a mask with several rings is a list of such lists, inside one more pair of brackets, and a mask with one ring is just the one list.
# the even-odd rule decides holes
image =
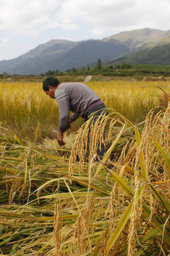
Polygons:
[[[153,107],[165,104],[161,90],[145,86],[169,90],[167,82],[113,80],[87,82],[86,85],[101,97],[108,110],[116,110],[135,124],[142,122]],[[160,100],[163,101],[160,103]],[[33,137],[38,123],[42,136],[50,136],[50,131],[57,129],[57,103],[45,95],[41,82],[1,82],[0,105],[0,121],[18,136]],[[79,129],[81,124],[80,118],[73,125],[74,129]]]

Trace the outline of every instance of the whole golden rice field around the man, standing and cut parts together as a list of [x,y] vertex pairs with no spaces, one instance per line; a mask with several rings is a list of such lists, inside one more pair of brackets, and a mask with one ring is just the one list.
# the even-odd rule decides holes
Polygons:
[[88,163],[83,119],[59,147],[42,81],[1,80],[1,255],[169,255],[168,84],[86,82],[108,107],[106,154]]

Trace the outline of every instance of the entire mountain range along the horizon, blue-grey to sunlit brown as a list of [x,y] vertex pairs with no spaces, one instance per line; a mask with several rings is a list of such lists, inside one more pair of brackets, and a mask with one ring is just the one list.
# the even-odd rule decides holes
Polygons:
[[51,40],[18,58],[0,61],[0,73],[38,75],[96,63],[170,65],[170,31],[142,28],[102,40]]

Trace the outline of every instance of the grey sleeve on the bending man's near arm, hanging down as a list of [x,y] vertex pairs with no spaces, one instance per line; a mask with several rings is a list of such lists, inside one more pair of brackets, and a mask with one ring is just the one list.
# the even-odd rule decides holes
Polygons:
[[69,124],[69,95],[63,89],[57,89],[55,91],[55,99],[57,100],[57,105],[60,112],[59,117],[59,130],[64,132]]

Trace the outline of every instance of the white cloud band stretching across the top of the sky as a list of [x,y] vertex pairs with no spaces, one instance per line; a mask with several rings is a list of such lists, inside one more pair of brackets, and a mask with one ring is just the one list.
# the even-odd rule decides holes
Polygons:
[[168,29],[169,17],[169,0],[1,0],[0,29],[37,36],[47,28],[76,31],[84,23],[100,36],[134,27]]

